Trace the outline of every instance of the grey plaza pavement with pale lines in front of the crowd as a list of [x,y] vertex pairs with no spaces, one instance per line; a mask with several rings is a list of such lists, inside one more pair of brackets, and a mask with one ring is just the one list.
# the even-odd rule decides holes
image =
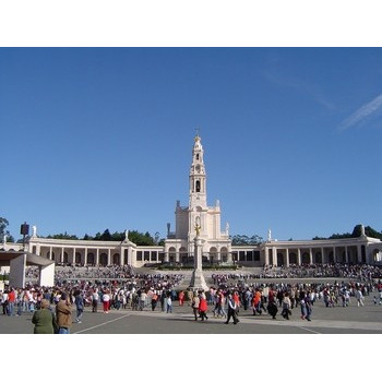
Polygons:
[[[271,280],[265,279],[268,283]],[[277,279],[280,283],[283,280]],[[289,280],[296,283],[296,279]],[[319,279],[319,283],[322,280]],[[224,319],[214,318],[213,306],[208,306],[208,320],[194,321],[192,309],[188,302],[179,307],[174,301],[172,313],[160,311],[160,305],[154,312],[151,308],[144,311],[110,310],[105,314],[102,305],[98,312],[92,313],[85,308],[81,324],[73,323],[72,334],[382,334],[382,306],[373,303],[371,293],[366,296],[365,307],[357,307],[356,299],[351,298],[349,307],[326,308],[322,300],[313,306],[312,321],[300,319],[300,309],[291,310],[290,320],[284,320],[280,308],[276,320],[263,313],[253,315],[252,309],[240,310],[240,322],[234,325],[224,324]],[[75,309],[73,309],[73,317]],[[31,334],[34,325],[31,322],[32,313],[21,317],[0,315],[0,334]]]

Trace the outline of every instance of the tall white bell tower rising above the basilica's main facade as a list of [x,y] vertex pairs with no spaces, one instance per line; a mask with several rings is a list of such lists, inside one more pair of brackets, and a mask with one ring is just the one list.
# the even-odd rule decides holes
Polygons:
[[207,208],[206,174],[203,160],[201,138],[196,134],[192,148],[192,164],[190,169],[190,200],[189,208]]

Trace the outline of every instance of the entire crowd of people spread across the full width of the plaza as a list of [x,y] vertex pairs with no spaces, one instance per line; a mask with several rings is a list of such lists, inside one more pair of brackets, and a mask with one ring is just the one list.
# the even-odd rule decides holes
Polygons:
[[[89,307],[92,312],[107,314],[110,310],[155,311],[159,306],[160,311],[171,313],[174,301],[178,301],[179,306],[187,301],[195,321],[208,320],[210,306],[215,318],[224,318],[226,324],[232,319],[234,324],[238,324],[240,311],[251,311],[253,315],[268,314],[272,319],[276,319],[280,311],[280,315],[289,320],[291,310],[296,308],[301,320],[311,321],[312,308],[319,301],[326,308],[346,308],[351,303],[361,307],[365,296],[373,291],[379,294],[374,303],[382,305],[381,268],[375,266],[336,264],[288,270],[266,267],[259,274],[212,274],[213,286],[206,291],[195,293],[190,288],[179,290],[183,274],[136,273],[127,265],[96,268],[64,266],[57,270],[53,287],[39,287],[29,282],[25,288],[5,288],[0,291],[0,302],[3,314],[33,313],[35,333],[52,331],[62,334],[70,333],[73,322],[82,323],[85,307]],[[309,276],[314,278],[338,276],[347,280],[259,280],[259,275],[276,271],[288,278],[313,271],[314,276],[310,273]],[[379,282],[375,283],[375,279]]]

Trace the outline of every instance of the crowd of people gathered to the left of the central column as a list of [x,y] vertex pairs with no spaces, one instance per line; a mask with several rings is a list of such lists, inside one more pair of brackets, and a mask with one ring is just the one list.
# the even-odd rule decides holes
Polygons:
[[[159,302],[163,311],[171,312],[171,301],[178,298],[175,288],[184,278],[184,275],[178,274],[138,274],[127,266],[111,270],[111,273],[99,270],[100,278],[88,278],[83,274],[79,275],[75,271],[75,268],[58,270],[59,274],[56,275],[53,287],[39,287],[28,282],[25,288],[5,288],[0,291],[2,313],[22,315],[28,312],[34,313],[34,323],[39,315],[46,322],[46,313],[37,312],[49,307],[47,310],[55,312],[55,317],[59,317],[57,307],[62,299],[65,300],[67,306],[75,306],[76,323],[82,323],[85,307],[92,307],[92,311],[97,312],[98,306],[102,306],[104,313],[108,313],[110,309],[145,310],[150,307],[151,310],[155,310]],[[124,272],[126,277],[115,278],[114,271]],[[67,272],[80,278],[63,277]],[[82,270],[82,272],[87,271]],[[58,326],[58,331],[69,332],[70,325],[68,323],[65,325]]]

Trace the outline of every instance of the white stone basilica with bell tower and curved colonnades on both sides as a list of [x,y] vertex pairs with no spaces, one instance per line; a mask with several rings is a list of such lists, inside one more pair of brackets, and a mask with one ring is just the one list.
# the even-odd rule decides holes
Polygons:
[[[365,229],[358,238],[334,240],[288,240],[268,238],[256,246],[232,247],[228,224],[222,231],[220,205],[207,205],[207,175],[204,151],[199,134],[194,139],[192,163],[189,174],[189,205],[176,204],[176,228],[168,235],[164,247],[140,247],[129,241],[89,241],[45,239],[37,236],[36,228],[27,240],[31,253],[55,263],[82,265],[131,265],[148,263],[193,263],[195,222],[200,222],[200,238],[203,242],[203,261],[210,263],[232,262],[246,266],[289,266],[314,263],[363,263],[381,264],[382,242],[369,238]],[[0,249],[1,250],[1,249]],[[20,251],[22,244],[2,243],[2,250]]]

